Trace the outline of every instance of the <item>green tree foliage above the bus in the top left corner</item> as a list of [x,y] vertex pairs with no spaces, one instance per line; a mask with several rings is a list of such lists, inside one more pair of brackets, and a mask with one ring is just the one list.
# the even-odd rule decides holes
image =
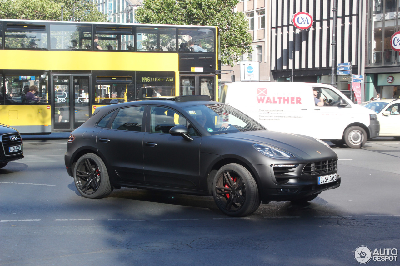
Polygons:
[[90,0],[0,0],[0,18],[24,20],[106,22],[106,16]]

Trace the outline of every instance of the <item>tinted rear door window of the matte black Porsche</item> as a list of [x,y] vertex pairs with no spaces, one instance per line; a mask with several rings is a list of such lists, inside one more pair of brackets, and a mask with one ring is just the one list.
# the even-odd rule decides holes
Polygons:
[[118,111],[112,122],[112,129],[142,131],[144,106],[133,106]]

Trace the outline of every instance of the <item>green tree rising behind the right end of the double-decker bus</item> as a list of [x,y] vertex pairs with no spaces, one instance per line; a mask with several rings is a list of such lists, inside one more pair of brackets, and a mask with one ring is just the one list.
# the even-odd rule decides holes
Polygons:
[[252,52],[252,37],[242,12],[234,12],[238,0],[144,0],[136,21],[148,24],[217,26],[221,61],[234,65],[245,52]]

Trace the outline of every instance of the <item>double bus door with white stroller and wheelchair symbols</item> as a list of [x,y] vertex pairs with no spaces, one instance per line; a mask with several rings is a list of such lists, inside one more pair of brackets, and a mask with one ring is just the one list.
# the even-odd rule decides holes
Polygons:
[[91,74],[52,73],[54,131],[73,131],[89,119]]

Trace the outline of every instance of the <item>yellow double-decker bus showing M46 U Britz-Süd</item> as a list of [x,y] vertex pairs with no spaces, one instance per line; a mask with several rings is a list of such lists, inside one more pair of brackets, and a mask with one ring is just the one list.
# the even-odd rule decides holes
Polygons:
[[96,107],[143,97],[218,101],[218,29],[0,20],[0,123],[72,131]]

